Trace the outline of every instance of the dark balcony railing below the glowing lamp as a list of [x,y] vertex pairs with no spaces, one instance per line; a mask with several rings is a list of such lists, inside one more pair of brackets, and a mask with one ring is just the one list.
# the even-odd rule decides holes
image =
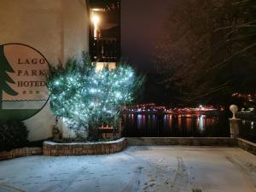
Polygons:
[[90,55],[92,61],[119,61],[119,40],[116,38],[91,38]]

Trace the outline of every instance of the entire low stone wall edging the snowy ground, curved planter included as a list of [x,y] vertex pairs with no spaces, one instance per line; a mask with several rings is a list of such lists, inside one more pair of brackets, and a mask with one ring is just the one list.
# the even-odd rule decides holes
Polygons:
[[256,144],[241,138],[230,137],[133,137],[107,143],[52,143],[44,142],[42,148],[15,148],[0,152],[0,160],[29,155],[68,156],[86,154],[113,154],[128,146],[183,145],[239,147],[256,155]]

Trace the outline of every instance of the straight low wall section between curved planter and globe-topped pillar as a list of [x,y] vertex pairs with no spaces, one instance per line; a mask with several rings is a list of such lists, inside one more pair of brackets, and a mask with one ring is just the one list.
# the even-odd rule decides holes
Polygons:
[[236,145],[230,137],[130,137],[128,146],[183,145],[183,146],[229,146]]

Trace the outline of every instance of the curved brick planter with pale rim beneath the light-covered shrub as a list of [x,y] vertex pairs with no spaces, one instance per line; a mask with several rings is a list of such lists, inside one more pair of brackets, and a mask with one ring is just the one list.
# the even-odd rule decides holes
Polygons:
[[102,143],[54,143],[44,142],[43,154],[48,156],[68,156],[86,154],[113,154],[126,147],[125,138]]

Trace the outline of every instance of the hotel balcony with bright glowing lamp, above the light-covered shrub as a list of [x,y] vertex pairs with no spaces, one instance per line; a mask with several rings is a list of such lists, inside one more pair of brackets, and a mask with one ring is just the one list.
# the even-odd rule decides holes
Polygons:
[[119,0],[88,0],[90,6],[90,59],[114,62],[120,57]]

